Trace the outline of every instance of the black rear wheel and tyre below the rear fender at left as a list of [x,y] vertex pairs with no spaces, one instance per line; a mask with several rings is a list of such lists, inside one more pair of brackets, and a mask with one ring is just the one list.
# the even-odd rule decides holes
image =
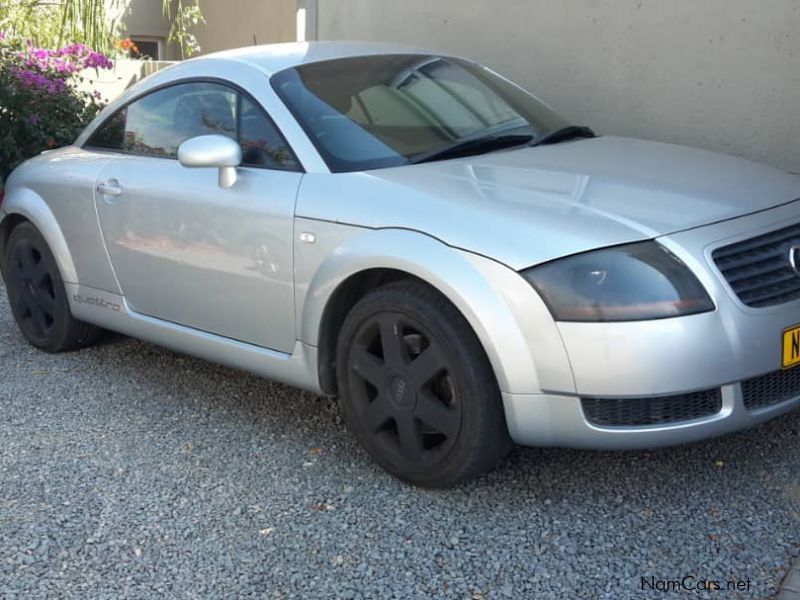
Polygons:
[[56,260],[30,223],[11,232],[3,273],[11,312],[31,344],[46,352],[66,352],[96,341],[100,330],[72,316]]

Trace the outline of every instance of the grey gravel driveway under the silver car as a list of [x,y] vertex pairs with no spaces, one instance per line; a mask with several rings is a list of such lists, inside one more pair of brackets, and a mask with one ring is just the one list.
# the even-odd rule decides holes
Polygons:
[[706,596],[641,590],[686,575],[765,598],[800,551],[798,413],[653,452],[520,448],[421,491],[334,401],[126,338],[41,354],[0,293],[3,598]]

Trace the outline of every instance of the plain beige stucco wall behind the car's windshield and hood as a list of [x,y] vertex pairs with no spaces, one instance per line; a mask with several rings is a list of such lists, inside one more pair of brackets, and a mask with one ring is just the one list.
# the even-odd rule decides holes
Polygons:
[[[313,0],[312,0],[313,3]],[[317,0],[319,39],[477,58],[597,130],[800,172],[798,0]]]

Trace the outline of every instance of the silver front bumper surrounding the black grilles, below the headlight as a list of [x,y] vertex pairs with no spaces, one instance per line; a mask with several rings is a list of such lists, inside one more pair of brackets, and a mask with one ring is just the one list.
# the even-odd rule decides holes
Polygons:
[[[660,238],[694,271],[717,309],[653,321],[558,323],[574,387],[548,385],[543,378],[540,394],[504,393],[513,439],[525,445],[575,448],[666,446],[743,429],[800,406],[800,385],[789,394],[780,391],[775,402],[767,397],[755,405],[742,387],[743,382],[748,386],[761,378],[779,378],[782,333],[800,324],[800,300],[762,309],[745,306],[711,258],[716,248],[798,221],[800,202],[795,202]],[[598,425],[582,405],[585,398],[622,402],[701,390],[718,390],[721,402],[713,414],[690,420]],[[770,393],[769,386],[763,388],[762,396]]]

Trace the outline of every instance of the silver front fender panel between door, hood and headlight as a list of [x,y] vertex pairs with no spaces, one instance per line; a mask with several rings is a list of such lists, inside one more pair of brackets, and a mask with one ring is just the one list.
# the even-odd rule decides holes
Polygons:
[[[502,391],[574,391],[569,361],[547,308],[513,270],[416,231],[306,223],[321,240],[337,245],[319,252],[306,293],[302,301],[298,298],[305,343],[318,343],[325,307],[343,282],[369,269],[394,269],[427,282],[459,309],[483,345]],[[298,274],[308,266],[299,256]]]

